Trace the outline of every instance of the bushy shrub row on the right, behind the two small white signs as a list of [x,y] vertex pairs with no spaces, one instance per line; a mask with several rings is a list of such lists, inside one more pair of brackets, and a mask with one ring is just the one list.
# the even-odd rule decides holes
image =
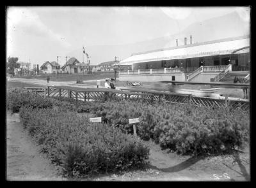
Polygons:
[[196,107],[121,101],[92,108],[95,117],[132,133],[128,119],[140,117],[138,135],[181,154],[211,154],[243,147],[249,136],[249,113],[241,108]]

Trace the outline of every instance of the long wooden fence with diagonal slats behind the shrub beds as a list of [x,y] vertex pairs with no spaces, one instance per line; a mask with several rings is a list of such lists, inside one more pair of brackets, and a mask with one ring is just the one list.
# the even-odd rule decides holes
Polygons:
[[107,100],[109,96],[115,96],[113,99],[141,99],[142,101],[162,101],[165,103],[181,103],[196,106],[231,106],[248,110],[250,109],[250,101],[246,99],[217,99],[207,97],[196,97],[191,94],[178,94],[173,92],[159,92],[156,90],[122,88],[105,89],[105,88],[79,88],[79,87],[63,87],[51,86],[45,88],[29,87],[25,88],[32,92],[38,93],[40,96],[49,98],[74,98],[85,102],[92,102],[98,99]]

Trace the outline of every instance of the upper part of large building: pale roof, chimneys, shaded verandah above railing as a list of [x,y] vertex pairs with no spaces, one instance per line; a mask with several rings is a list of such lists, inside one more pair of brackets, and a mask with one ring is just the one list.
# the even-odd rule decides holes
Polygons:
[[[177,40],[176,40],[177,42]],[[120,61],[122,65],[131,65],[132,70],[163,68],[198,68],[200,66],[225,66],[232,64],[233,71],[250,69],[250,38],[239,36],[221,40],[205,41],[185,45],[151,50],[132,54]],[[243,49],[243,50],[239,50]],[[233,53],[234,52],[234,53]]]

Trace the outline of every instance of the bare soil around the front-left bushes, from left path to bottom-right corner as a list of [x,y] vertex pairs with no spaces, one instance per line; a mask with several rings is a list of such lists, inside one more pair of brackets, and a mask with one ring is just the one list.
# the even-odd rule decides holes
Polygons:
[[[6,145],[8,180],[68,180],[61,178],[58,167],[49,163],[39,152],[39,146],[22,127],[19,114],[10,112],[6,117]],[[108,173],[81,180],[93,181],[248,181],[250,180],[250,152],[230,155],[198,156],[177,155],[161,150],[153,141],[145,141],[150,148],[148,167]]]

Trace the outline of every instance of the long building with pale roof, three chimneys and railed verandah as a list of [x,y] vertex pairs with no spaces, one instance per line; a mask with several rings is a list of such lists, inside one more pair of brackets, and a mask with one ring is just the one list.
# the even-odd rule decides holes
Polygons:
[[[147,74],[152,78],[153,75],[154,78],[156,75],[164,76],[163,79],[166,80],[168,78],[166,76],[172,76],[171,74],[175,73],[179,75],[176,76],[178,80],[191,81],[188,80],[189,74],[191,75],[196,70],[198,72],[198,68],[201,66],[204,67],[202,70],[205,70],[205,73],[210,74],[211,72],[211,76],[208,76],[207,79],[210,80],[225,69],[228,71],[249,71],[250,69],[249,36],[202,43],[192,43],[190,38],[190,43],[188,45],[186,43],[186,38],[184,38],[185,45],[182,46],[177,45],[176,47],[132,54],[131,57],[120,62],[120,64],[132,66],[132,71],[120,71],[120,80],[127,80],[131,75],[137,75],[138,78],[138,75],[141,77],[141,75]],[[161,73],[167,75],[161,75]],[[181,73],[184,75],[181,76]],[[194,75],[198,74],[194,73]],[[150,78],[150,76],[147,77]],[[134,80],[134,78],[130,80]]]

